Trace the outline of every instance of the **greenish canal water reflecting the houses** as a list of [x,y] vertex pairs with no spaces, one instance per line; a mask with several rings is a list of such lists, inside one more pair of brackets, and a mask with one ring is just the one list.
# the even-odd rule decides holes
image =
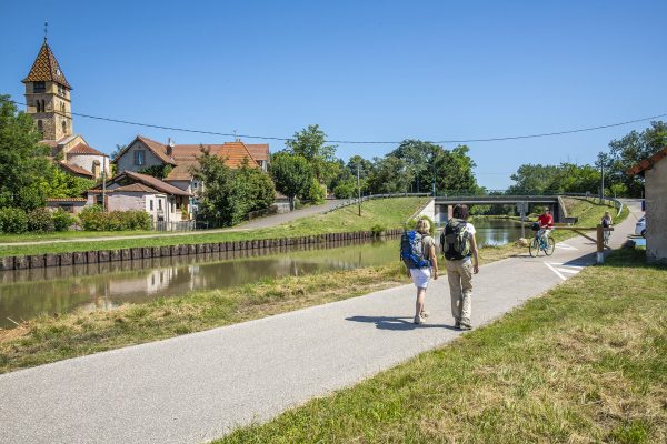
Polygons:
[[[479,245],[512,242],[521,231],[516,222],[504,220],[484,220],[475,225]],[[108,310],[192,290],[384,265],[398,262],[398,244],[399,239],[394,238],[0,272],[0,327],[11,329],[16,326],[12,321],[42,313]]]

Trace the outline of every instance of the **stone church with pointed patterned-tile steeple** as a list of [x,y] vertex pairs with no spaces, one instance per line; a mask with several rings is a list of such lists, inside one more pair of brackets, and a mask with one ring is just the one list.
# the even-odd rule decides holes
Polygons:
[[99,179],[109,171],[109,157],[74,134],[71,113],[72,87],[64,78],[51,48],[44,42],[37,54],[26,84],[26,112],[42,133],[41,143],[51,148],[51,157],[70,174]]

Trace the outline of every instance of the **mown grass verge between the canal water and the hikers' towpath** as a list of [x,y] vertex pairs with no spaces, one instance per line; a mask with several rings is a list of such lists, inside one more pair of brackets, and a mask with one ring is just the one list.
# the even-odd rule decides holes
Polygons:
[[[482,250],[482,261],[524,249]],[[110,311],[41,316],[0,330],[0,373],[106,350],[173,337],[266,317],[407,284],[405,269],[391,265],[262,280],[239,287],[193,292]]]

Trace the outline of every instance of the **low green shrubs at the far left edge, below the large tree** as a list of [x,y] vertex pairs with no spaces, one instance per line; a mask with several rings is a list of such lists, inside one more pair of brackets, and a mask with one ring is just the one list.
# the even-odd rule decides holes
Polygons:
[[20,234],[50,233],[52,231],[66,231],[74,223],[68,212],[63,210],[50,211],[38,208],[28,213],[19,208],[0,209],[0,233]]

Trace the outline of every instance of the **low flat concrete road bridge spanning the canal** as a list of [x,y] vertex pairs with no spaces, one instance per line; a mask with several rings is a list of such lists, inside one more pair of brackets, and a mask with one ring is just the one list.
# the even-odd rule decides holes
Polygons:
[[436,222],[446,222],[451,218],[454,205],[526,205],[529,204],[549,206],[554,221],[565,222],[566,211],[559,195],[438,195],[434,202],[434,216]]

